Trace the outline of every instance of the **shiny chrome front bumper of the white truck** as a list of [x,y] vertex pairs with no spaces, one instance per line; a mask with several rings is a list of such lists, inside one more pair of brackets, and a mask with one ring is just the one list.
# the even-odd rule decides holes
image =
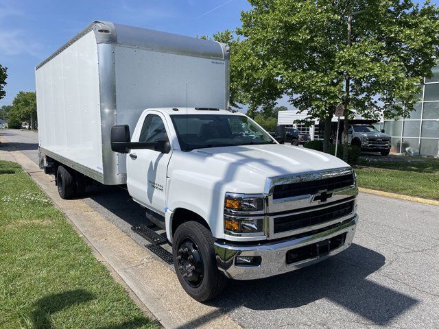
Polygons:
[[[267,278],[318,263],[321,260],[342,252],[351,245],[357,221],[358,215],[355,215],[352,219],[344,221],[329,230],[319,231],[311,235],[304,236],[302,234],[299,237],[293,236],[290,240],[268,241],[267,243],[257,243],[254,245],[239,245],[226,241],[217,241],[214,244],[214,248],[218,269],[228,278],[252,280]],[[344,243],[329,253],[324,254],[324,256],[314,256],[297,263],[287,264],[287,252],[289,252],[289,250],[312,245],[319,241],[326,241],[327,239],[344,233],[346,233]],[[237,266],[235,265],[235,258],[237,256],[261,256],[261,265],[256,267]]]

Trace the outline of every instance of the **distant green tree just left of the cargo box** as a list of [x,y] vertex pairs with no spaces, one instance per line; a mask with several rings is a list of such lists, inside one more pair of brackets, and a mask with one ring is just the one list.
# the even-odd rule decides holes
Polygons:
[[8,112],[8,117],[13,122],[29,121],[29,129],[35,129],[36,117],[36,95],[34,91],[21,91],[12,101],[12,110]]

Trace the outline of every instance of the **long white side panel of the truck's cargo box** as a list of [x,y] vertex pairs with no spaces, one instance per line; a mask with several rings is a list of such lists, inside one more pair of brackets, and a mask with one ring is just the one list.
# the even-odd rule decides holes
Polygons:
[[88,32],[36,70],[39,145],[103,172],[95,34]]

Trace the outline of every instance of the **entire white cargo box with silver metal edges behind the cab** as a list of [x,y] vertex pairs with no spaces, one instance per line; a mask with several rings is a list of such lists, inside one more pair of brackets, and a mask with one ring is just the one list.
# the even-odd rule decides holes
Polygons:
[[104,184],[126,183],[113,125],[146,108],[228,108],[228,47],[95,21],[36,67],[40,154]]

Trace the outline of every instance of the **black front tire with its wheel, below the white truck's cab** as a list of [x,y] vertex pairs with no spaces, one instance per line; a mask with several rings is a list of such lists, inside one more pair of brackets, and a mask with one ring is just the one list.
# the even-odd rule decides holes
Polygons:
[[172,254],[178,281],[194,300],[204,302],[219,295],[226,277],[219,272],[211,232],[197,221],[178,226]]

